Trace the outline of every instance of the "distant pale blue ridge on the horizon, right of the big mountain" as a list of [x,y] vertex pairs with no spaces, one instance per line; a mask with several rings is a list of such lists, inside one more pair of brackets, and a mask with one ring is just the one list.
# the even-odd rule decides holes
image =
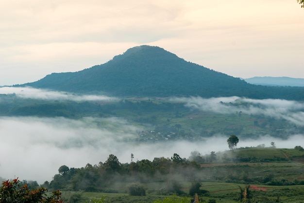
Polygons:
[[251,77],[244,80],[254,85],[304,87],[304,78]]

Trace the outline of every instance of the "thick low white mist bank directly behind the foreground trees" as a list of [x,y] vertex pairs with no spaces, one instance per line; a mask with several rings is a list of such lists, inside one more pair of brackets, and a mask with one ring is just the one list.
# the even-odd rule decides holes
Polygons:
[[[113,129],[115,126],[116,130]],[[121,163],[154,157],[171,157],[174,153],[188,158],[191,151],[201,154],[228,150],[227,136],[207,138],[203,142],[170,141],[138,144],[126,141],[136,136],[137,128],[118,118],[70,120],[65,118],[0,117],[0,176],[4,179],[51,181],[62,165],[84,167],[104,162],[109,154]],[[264,137],[240,140],[237,147],[275,142],[278,148],[293,148],[304,141],[303,135],[288,140]]]

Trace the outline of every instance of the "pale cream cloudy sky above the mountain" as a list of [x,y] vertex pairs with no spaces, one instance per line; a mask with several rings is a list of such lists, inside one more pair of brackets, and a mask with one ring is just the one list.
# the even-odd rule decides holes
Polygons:
[[235,77],[304,78],[303,19],[296,0],[0,0],[0,85],[143,44]]

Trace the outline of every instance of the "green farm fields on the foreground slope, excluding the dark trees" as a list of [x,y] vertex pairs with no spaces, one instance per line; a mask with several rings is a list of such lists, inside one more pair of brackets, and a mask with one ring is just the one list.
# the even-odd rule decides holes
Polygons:
[[[223,152],[221,152],[223,153]],[[99,200],[105,203],[153,203],[166,198],[174,199],[189,195],[191,185],[199,183],[201,203],[239,203],[247,191],[247,203],[304,203],[303,151],[279,148],[242,148],[226,151],[229,156],[255,156],[256,160],[285,158],[269,162],[226,162],[201,164],[193,176],[172,174],[171,181],[178,182],[180,194],[161,194],[169,186],[168,181],[146,180],[138,183],[146,190],[144,196],[132,196],[128,192],[130,182],[116,182],[108,185],[115,193],[64,191],[63,197],[69,203]],[[220,153],[218,153],[220,156]],[[73,199],[74,198],[74,199]]]

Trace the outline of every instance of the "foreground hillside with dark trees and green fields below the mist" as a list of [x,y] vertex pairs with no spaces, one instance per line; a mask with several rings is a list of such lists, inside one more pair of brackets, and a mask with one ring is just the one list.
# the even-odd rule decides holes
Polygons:
[[[122,164],[110,154],[104,163],[82,168],[60,166],[59,173],[43,186],[66,191],[65,198],[71,203],[94,198],[152,203],[172,198],[172,194],[193,198],[194,193],[201,202],[236,203],[244,200],[245,188],[248,203],[296,203],[304,197],[304,165],[299,162],[303,155],[301,146],[239,148],[206,155],[193,151],[188,158],[175,153],[171,158]],[[133,194],[130,188],[134,187],[143,193]]]

